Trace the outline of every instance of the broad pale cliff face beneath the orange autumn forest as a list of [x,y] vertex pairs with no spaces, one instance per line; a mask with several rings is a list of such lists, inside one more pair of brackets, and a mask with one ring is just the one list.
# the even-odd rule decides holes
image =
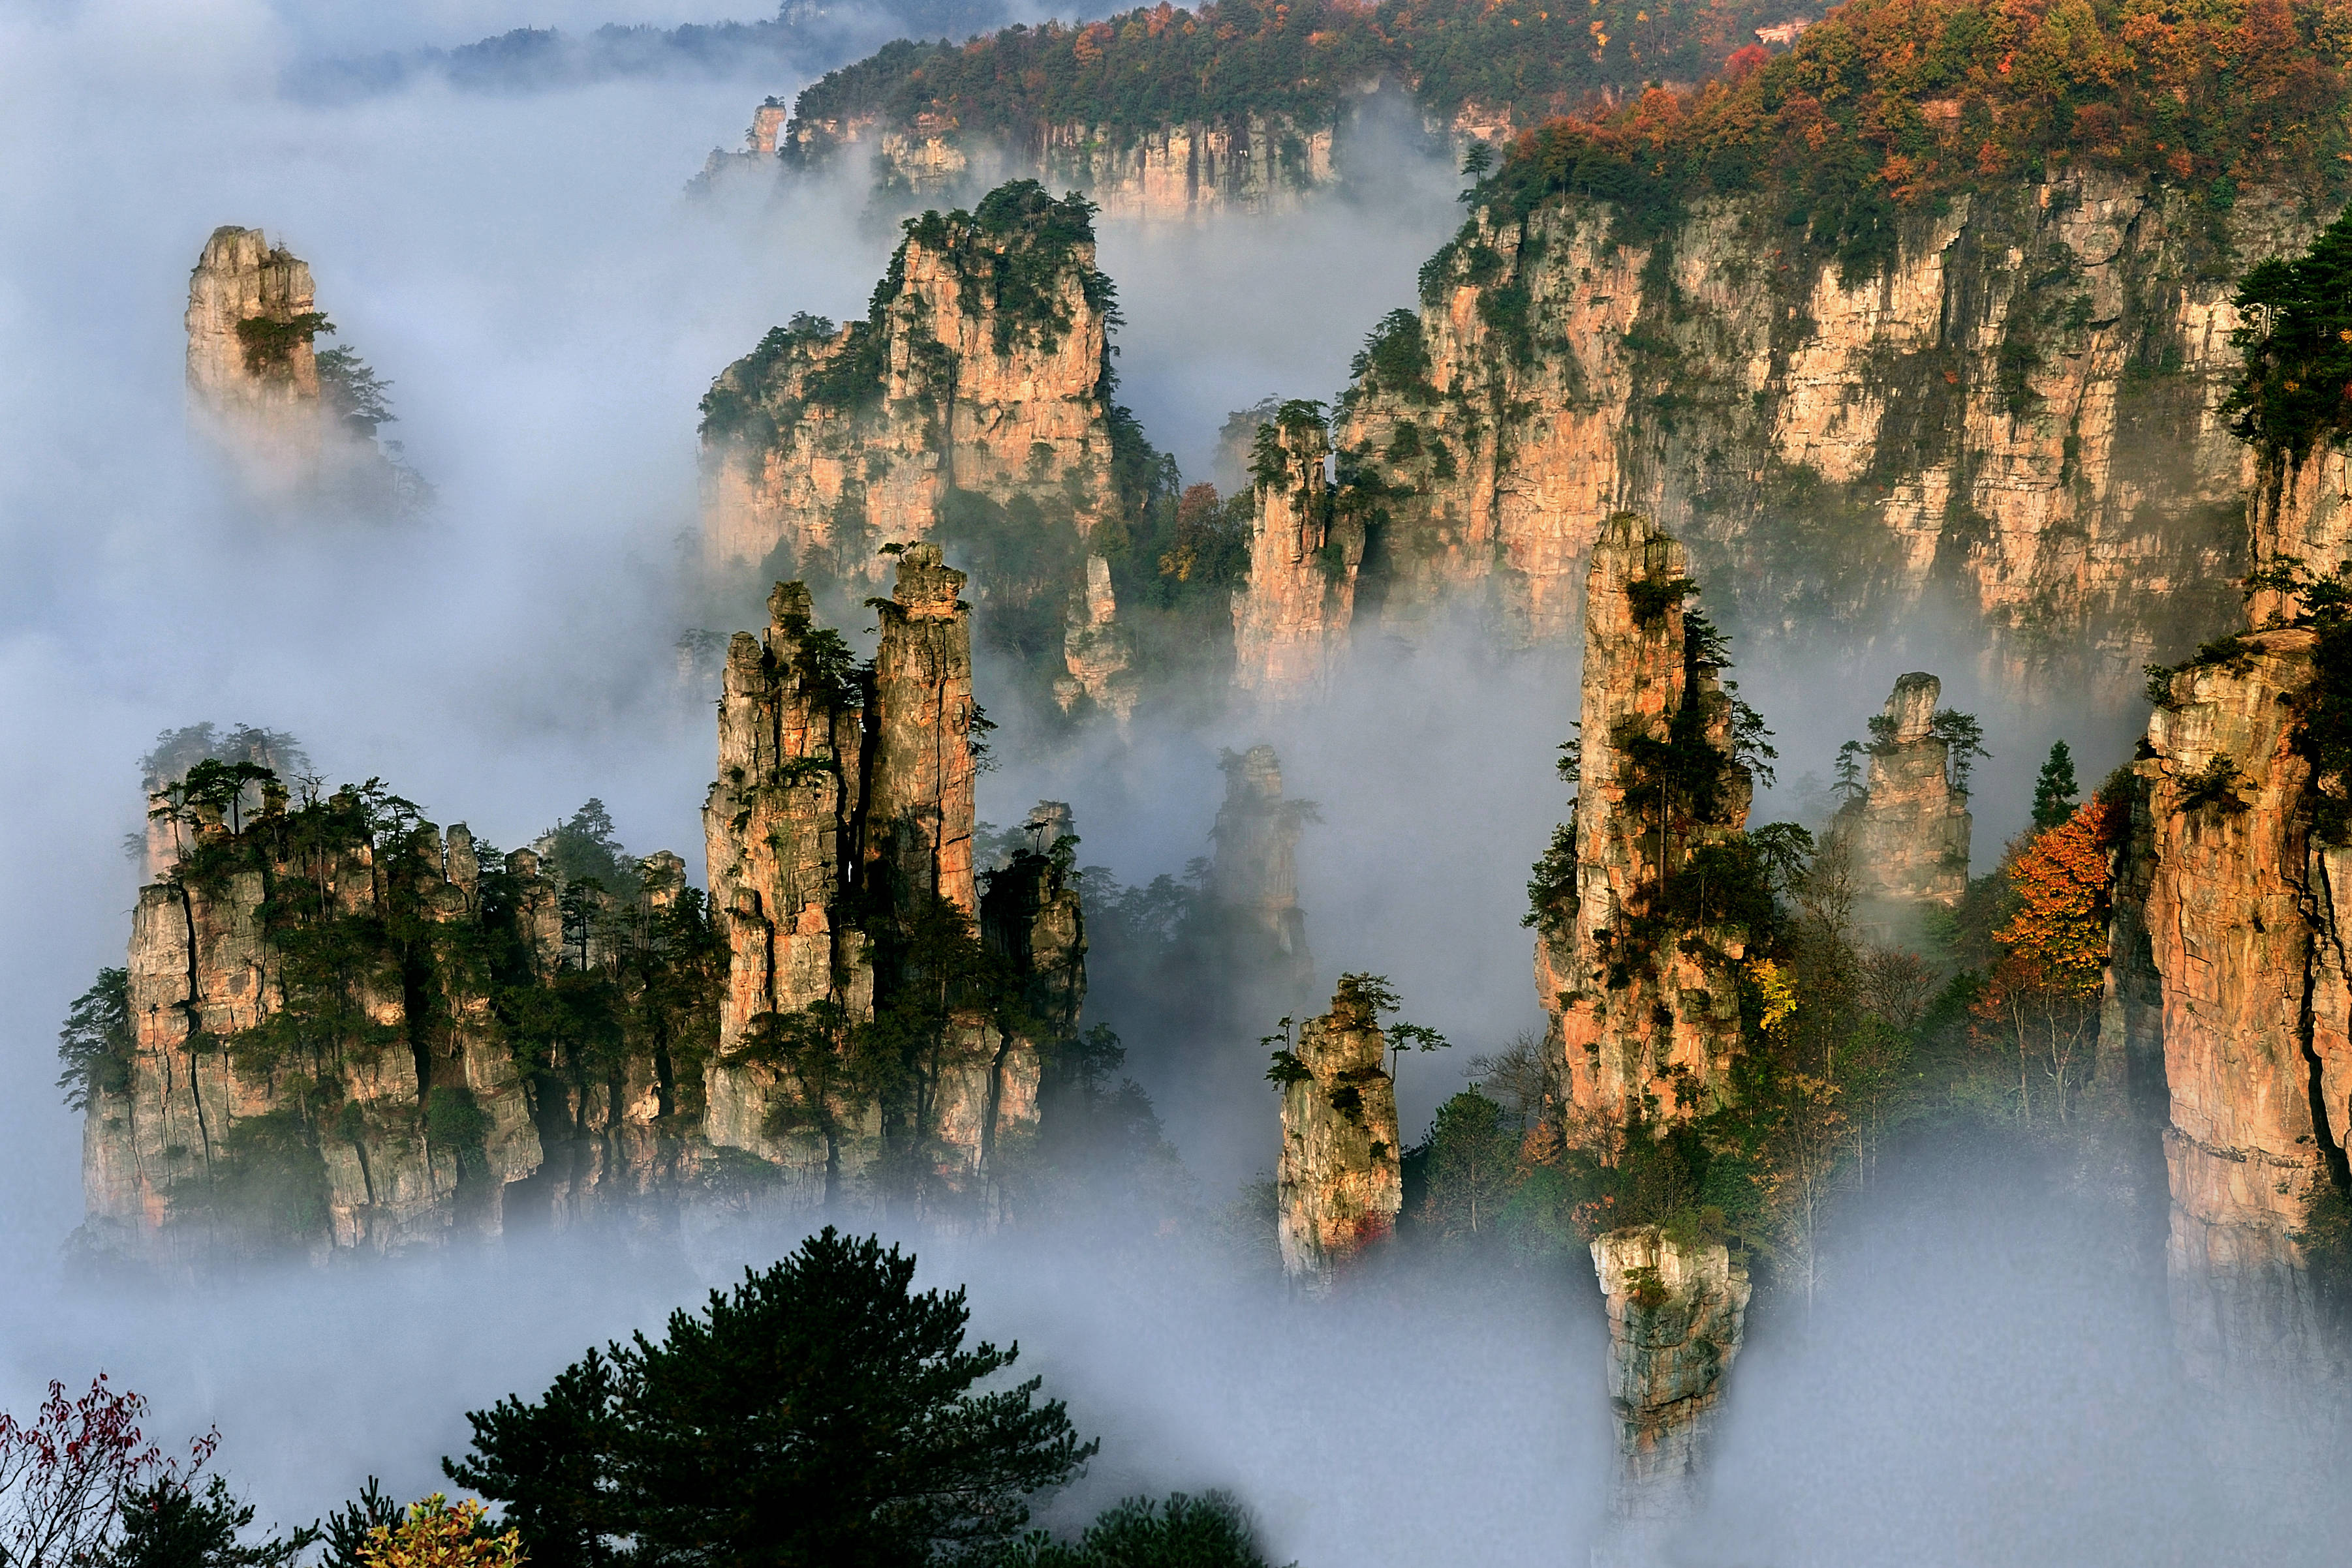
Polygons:
[[[1842,275],[1745,197],[1656,237],[1588,200],[1482,209],[1338,421],[1383,491],[1362,630],[1411,639],[1461,602],[1557,639],[1599,527],[1642,510],[1748,637],[1860,642],[1936,599],[1983,621],[2004,679],[2124,698],[2234,618],[2230,299],[2307,233],[2274,193],[2220,216],[2070,172],[1955,197]],[[1247,614],[1345,637],[1270,588]]]

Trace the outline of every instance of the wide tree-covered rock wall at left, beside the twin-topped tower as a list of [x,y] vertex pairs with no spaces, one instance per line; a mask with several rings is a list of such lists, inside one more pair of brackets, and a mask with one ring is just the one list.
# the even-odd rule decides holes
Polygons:
[[289,809],[270,783],[252,818],[179,816],[132,912],[132,1046],[82,1133],[94,1251],[181,1267],[383,1253],[699,1180],[673,1119],[680,1063],[656,1048],[583,1070],[494,1006],[604,966],[621,926],[663,940],[677,856],[647,858],[628,898],[567,903],[532,851],[485,875],[463,825],[442,835],[381,792]]

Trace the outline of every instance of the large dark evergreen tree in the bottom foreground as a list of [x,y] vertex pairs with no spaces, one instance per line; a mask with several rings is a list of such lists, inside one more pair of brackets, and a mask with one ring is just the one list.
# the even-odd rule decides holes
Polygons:
[[536,1403],[468,1413],[449,1479],[506,1502],[539,1568],[898,1568],[1011,1540],[1094,1455],[1018,1345],[964,1347],[964,1293],[830,1225],[656,1345],[588,1352]]

